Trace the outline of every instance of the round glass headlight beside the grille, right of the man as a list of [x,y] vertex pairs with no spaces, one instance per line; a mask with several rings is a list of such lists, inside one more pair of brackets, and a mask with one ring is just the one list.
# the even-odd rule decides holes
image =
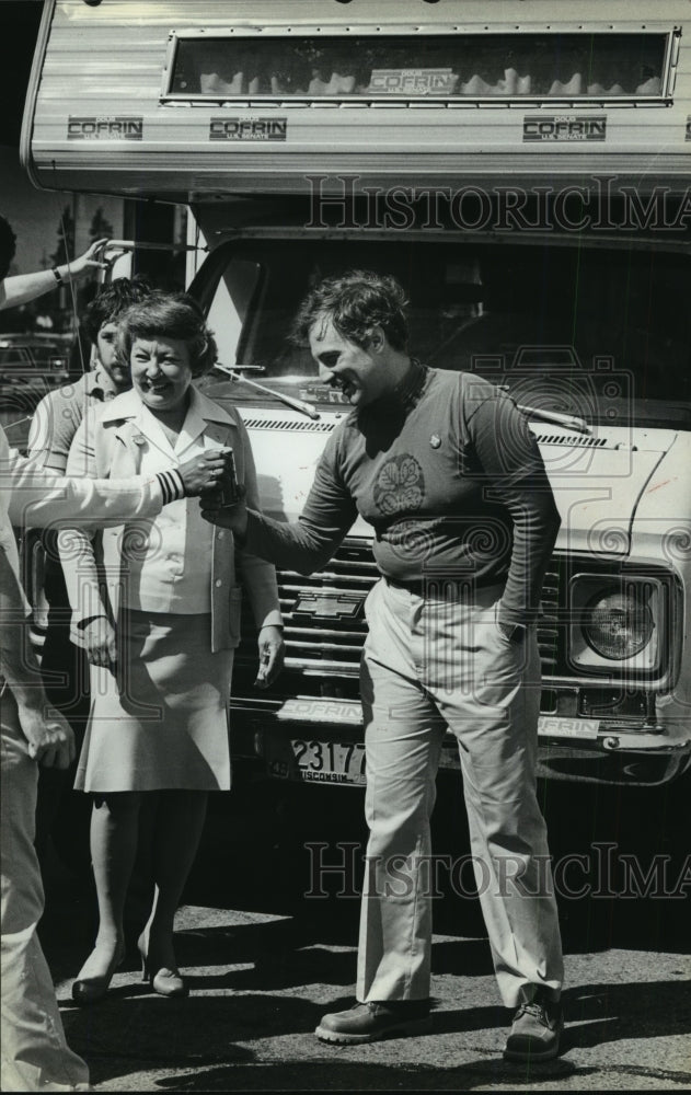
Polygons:
[[653,614],[633,591],[597,593],[585,607],[583,634],[603,658],[621,660],[638,654],[653,637]]

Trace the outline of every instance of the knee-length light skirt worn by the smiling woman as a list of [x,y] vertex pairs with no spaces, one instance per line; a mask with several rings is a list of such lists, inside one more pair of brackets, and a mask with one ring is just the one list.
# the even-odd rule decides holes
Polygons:
[[91,666],[91,714],[74,787],[227,791],[233,650],[211,654],[208,613],[125,609],[113,671]]

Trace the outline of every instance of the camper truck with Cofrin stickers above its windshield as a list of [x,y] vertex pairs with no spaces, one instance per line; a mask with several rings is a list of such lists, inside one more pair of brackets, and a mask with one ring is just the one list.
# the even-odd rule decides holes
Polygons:
[[[323,276],[395,275],[413,353],[509,392],[561,511],[541,774],[688,768],[688,0],[46,0],[22,157],[39,187],[187,207],[206,391],[240,410],[279,520],[348,413],[290,343],[295,310]],[[234,749],[269,777],[365,781],[371,538],[358,522],[321,572],[279,570],[270,691],[251,635],[238,652]]]

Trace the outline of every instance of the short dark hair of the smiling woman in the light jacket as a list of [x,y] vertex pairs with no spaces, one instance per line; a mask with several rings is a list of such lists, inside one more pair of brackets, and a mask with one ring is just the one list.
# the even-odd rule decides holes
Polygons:
[[204,312],[185,292],[154,289],[138,304],[131,304],[118,320],[118,356],[129,366],[136,338],[177,338],[189,354],[193,377],[203,377],[217,358],[216,341],[206,325]]

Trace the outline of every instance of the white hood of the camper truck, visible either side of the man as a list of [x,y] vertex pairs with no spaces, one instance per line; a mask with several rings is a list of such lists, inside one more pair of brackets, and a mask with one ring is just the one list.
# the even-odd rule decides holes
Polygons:
[[[295,521],[309,494],[327,437],[343,414],[311,422],[286,410],[239,407],[252,440],[264,512]],[[531,423],[562,516],[557,549],[626,555],[636,508],[675,440],[665,429],[603,429],[592,436]],[[371,538],[358,520],[354,535]]]

